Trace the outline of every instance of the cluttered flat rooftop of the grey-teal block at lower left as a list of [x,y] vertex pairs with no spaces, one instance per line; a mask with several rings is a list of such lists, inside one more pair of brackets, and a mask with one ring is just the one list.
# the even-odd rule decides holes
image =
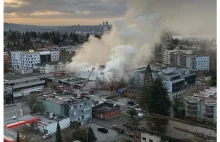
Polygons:
[[76,94],[72,94],[66,91],[57,91],[56,93],[44,95],[42,97],[43,101],[49,101],[57,104],[74,104],[89,100],[90,97],[80,96],[77,97]]

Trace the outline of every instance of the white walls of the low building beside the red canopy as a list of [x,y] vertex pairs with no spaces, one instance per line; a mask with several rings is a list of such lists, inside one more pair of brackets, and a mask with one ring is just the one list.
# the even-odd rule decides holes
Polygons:
[[[70,118],[65,118],[59,121],[61,130],[64,128],[68,128],[70,126]],[[47,131],[48,134],[56,133],[57,122],[53,123],[37,123],[39,130],[44,133]]]

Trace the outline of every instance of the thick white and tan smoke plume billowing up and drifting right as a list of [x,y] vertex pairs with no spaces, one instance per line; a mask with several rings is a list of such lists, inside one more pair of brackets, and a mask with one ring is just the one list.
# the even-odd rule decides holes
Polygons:
[[[216,34],[216,1],[214,0],[130,0],[124,18],[116,19],[112,31],[101,40],[89,41],[72,58],[69,72],[91,70],[99,77],[128,79],[126,71],[151,58],[152,47],[163,30],[181,35]],[[214,5],[214,7],[213,7]],[[100,71],[99,65],[106,68]]]

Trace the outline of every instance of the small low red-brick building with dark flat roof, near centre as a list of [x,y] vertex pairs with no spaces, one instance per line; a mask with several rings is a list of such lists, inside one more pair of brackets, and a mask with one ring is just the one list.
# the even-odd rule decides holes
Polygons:
[[92,108],[92,116],[103,120],[109,120],[121,114],[120,106],[103,102]]

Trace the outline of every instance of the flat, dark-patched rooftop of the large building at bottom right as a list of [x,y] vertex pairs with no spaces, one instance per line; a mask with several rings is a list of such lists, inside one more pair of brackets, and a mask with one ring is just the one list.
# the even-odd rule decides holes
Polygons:
[[[216,140],[216,130],[208,129],[191,122],[171,119],[169,117],[152,114],[139,121],[139,124],[125,124],[130,128],[161,136],[162,138],[177,139],[187,142],[206,142]],[[204,134],[207,139],[201,137]]]

